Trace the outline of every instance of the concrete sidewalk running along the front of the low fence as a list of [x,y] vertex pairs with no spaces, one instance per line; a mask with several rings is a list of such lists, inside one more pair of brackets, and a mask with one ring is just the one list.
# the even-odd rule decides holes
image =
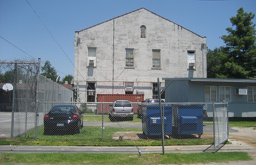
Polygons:
[[[256,155],[256,148],[237,140],[229,140],[232,144],[224,145],[218,152],[247,152]],[[162,153],[162,146],[138,147],[142,154]],[[208,148],[208,149],[207,149]],[[210,145],[197,146],[165,146],[165,153],[203,153],[215,152]],[[0,153],[117,153],[139,154],[136,147],[73,147],[73,146],[0,146]]]

